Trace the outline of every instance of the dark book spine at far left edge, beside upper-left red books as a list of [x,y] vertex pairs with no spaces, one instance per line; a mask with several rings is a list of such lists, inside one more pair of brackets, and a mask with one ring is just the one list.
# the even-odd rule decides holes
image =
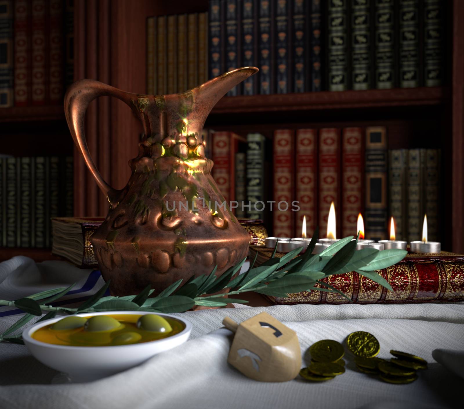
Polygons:
[[13,1],[0,7],[0,108],[13,106]]

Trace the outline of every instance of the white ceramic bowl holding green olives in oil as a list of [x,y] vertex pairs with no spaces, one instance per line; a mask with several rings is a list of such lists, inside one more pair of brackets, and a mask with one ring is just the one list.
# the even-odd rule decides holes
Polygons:
[[[148,311],[105,311],[76,314],[76,317],[116,314],[145,315],[153,313]],[[178,334],[156,341],[101,347],[55,345],[37,341],[31,337],[39,328],[64,318],[56,317],[26,328],[23,331],[23,340],[32,355],[41,363],[67,373],[73,382],[88,382],[132,368],[160,352],[170,350],[187,341],[192,330],[191,323],[173,315],[156,314],[178,320],[185,325],[185,328]]]

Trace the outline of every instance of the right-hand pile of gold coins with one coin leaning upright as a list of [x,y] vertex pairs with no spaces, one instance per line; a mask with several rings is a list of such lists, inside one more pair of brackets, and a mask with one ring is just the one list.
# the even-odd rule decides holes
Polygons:
[[388,383],[405,384],[417,379],[417,369],[427,369],[425,359],[391,350],[395,356],[390,361],[377,358],[380,352],[379,341],[374,335],[365,331],[356,331],[347,337],[348,349],[354,354],[354,363],[361,372],[379,375],[380,379]]

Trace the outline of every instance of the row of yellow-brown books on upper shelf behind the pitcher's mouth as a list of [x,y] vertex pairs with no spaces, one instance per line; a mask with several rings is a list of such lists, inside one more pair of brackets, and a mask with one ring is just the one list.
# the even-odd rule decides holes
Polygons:
[[148,17],[147,92],[184,92],[207,81],[207,13]]

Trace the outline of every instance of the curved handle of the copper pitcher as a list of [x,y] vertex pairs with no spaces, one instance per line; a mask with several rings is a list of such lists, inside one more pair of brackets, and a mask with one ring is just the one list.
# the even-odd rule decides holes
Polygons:
[[64,96],[64,113],[66,115],[66,122],[68,123],[71,131],[72,139],[80,149],[82,156],[84,157],[85,164],[92,173],[92,176],[97,182],[100,190],[108,198],[111,207],[114,208],[117,205],[120,191],[108,185],[108,183],[106,183],[102,178],[100,172],[98,172],[98,169],[90,155],[89,148],[87,147],[84,132],[84,118],[87,107],[94,99],[102,96],[110,96],[121,99],[121,101],[125,102],[143,123],[142,114],[137,109],[137,94],[121,91],[115,87],[103,84],[102,82],[95,81],[93,79],[81,79],[68,88],[68,91]]

